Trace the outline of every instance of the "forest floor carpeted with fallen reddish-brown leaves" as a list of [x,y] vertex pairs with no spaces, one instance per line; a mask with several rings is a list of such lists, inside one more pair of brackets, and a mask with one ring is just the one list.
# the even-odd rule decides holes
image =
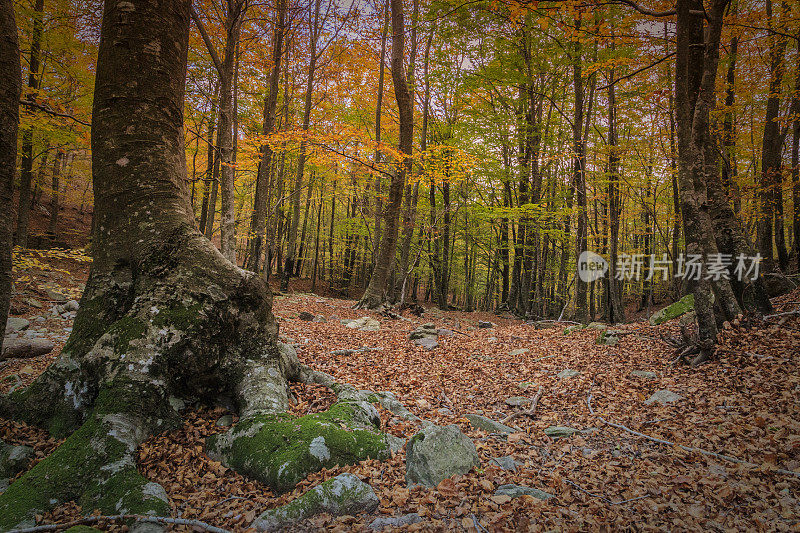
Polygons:
[[[18,262],[17,316],[31,322],[33,334],[51,338],[56,349],[33,359],[0,363],[0,392],[27,385],[58,355],[71,328],[71,316],[56,316],[46,287],[75,295],[88,274],[79,257],[30,252]],[[34,298],[41,308],[31,306]],[[564,326],[536,329],[520,320],[488,313],[442,312],[389,319],[352,309],[353,301],[291,293],[275,299],[280,335],[298,349],[300,359],[357,388],[391,391],[421,418],[456,424],[475,443],[480,468],[445,480],[434,489],[407,489],[405,452],[389,460],[366,461],[309,476],[295,491],[277,496],[203,453],[206,436],[224,431],[222,408],[199,405],[184,411],[183,427],[150,438],[140,449],[140,471],[166,489],[173,516],[242,531],[268,508],[286,503],[321,480],[352,472],[380,498],[372,516],[321,515],[300,530],[368,531],[379,516],[418,513],[410,531],[544,530],[764,530],[800,529],[800,317],[787,315],[753,327],[733,325],[721,333],[714,361],[697,369],[673,365],[674,349],[662,335],[678,336],[675,323],[653,327],[635,322],[615,327],[616,346],[596,344],[599,331],[564,335]],[[776,300],[776,312],[797,309],[800,291]],[[323,315],[307,322],[300,312]],[[374,316],[375,332],[346,328],[342,319]],[[37,318],[41,317],[41,318]],[[478,320],[494,322],[477,328]],[[409,340],[418,325],[433,322],[452,336],[440,336],[427,351]],[[337,350],[372,348],[337,355]],[[526,351],[527,350],[527,351]],[[564,370],[578,373],[558,377]],[[654,373],[636,377],[634,370]],[[564,374],[562,374],[564,376]],[[465,414],[496,421],[525,407],[513,396],[543,395],[534,416],[516,418],[519,429],[506,437],[472,428]],[[654,392],[669,390],[680,399],[645,404]],[[295,414],[324,410],[332,394],[318,386],[294,387]],[[588,401],[591,398],[590,410]],[[381,411],[385,431],[409,438],[418,428]],[[663,445],[606,425],[601,417],[653,437],[687,447],[733,456],[752,464]],[[553,439],[549,426],[583,430]],[[58,444],[42,430],[0,419],[0,439],[35,448],[36,461]],[[516,471],[493,458],[512,457]],[[756,466],[757,465],[757,466]],[[778,472],[778,469],[794,471]],[[495,495],[515,483],[555,497]],[[91,512],[87,509],[86,512]],[[40,517],[41,523],[78,518],[75,504]],[[119,531],[114,524],[101,529]]]

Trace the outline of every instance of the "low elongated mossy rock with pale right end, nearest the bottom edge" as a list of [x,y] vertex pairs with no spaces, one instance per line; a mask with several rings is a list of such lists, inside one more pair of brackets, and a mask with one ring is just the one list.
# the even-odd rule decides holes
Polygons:
[[278,531],[320,513],[332,516],[371,513],[380,501],[372,487],[353,474],[339,474],[291,502],[265,511],[251,527]]

